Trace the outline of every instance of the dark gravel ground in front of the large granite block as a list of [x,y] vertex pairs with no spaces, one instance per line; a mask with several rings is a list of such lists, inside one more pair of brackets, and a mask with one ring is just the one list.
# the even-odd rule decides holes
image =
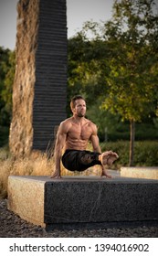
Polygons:
[[7,209],[7,200],[0,200],[0,237],[1,238],[157,238],[158,227],[142,226],[137,228],[112,229],[72,229],[46,232],[45,229],[20,219]]

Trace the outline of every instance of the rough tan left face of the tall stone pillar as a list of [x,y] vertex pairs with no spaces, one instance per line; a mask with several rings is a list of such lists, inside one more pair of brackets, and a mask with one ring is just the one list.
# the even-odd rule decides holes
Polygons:
[[13,86],[13,119],[10,150],[29,154],[33,144],[33,101],[36,81],[38,0],[17,4],[16,75]]

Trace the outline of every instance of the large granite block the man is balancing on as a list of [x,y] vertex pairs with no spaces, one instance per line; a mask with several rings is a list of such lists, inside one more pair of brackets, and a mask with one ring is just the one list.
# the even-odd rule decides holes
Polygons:
[[158,181],[115,176],[9,176],[8,208],[48,229],[158,221]]

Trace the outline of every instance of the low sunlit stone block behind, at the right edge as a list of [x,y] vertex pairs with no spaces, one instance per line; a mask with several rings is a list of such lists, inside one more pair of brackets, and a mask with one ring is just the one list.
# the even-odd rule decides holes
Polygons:
[[121,176],[158,180],[158,167],[121,167]]

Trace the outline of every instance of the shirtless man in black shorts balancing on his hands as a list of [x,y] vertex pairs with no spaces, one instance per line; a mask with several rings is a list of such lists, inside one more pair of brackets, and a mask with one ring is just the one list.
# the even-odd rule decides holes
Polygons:
[[[55,171],[51,178],[60,178],[60,161],[69,171],[84,171],[90,166],[100,165],[101,176],[110,177],[105,165],[111,166],[119,156],[106,151],[101,154],[97,127],[85,118],[86,101],[77,95],[70,102],[73,116],[60,123],[55,145]],[[87,151],[89,141],[93,152]],[[62,155],[62,150],[65,150]]]

